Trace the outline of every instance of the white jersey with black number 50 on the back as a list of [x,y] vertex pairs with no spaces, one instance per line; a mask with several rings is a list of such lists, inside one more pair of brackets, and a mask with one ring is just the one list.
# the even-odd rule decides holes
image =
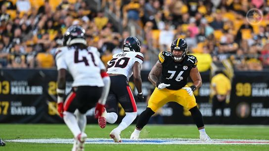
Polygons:
[[129,78],[133,75],[133,66],[137,61],[142,64],[144,56],[140,52],[127,51],[119,52],[113,55],[112,59],[107,62],[108,74],[120,74]]

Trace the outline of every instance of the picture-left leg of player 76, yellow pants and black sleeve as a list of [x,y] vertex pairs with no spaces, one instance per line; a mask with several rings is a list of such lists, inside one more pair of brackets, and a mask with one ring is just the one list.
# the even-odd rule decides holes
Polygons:
[[139,138],[140,131],[148,123],[150,117],[157,112],[162,106],[164,106],[171,99],[171,93],[168,89],[158,90],[155,88],[152,95],[148,100],[148,106],[145,111],[143,111],[136,122],[136,127],[134,132],[131,134],[133,140]]

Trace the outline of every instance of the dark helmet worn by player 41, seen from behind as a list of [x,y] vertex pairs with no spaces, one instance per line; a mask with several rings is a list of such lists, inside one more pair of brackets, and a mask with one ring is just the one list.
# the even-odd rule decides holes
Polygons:
[[74,43],[87,44],[85,30],[78,25],[70,26],[63,35],[63,45],[72,45]]

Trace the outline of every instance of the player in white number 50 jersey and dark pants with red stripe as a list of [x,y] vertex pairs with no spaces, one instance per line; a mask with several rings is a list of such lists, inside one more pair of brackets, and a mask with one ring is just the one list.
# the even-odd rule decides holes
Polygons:
[[[142,80],[140,68],[144,56],[140,53],[140,41],[135,37],[128,37],[123,43],[123,52],[113,55],[107,62],[107,73],[111,79],[109,94],[106,101],[105,117],[99,117],[99,126],[104,128],[106,121],[115,123],[118,118],[118,103],[121,104],[126,115],[118,127],[113,129],[110,137],[114,142],[122,142],[120,134],[135,119],[137,108],[132,90],[128,84],[129,78],[134,73],[134,85],[138,91],[137,99],[142,100]],[[105,121],[106,120],[106,121]]]

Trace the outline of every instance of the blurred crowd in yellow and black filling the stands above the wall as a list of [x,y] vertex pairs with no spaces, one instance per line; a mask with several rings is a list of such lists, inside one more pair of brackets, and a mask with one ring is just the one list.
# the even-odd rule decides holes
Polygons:
[[[170,51],[176,38],[186,40],[200,72],[224,59],[235,70],[269,68],[269,0],[101,0],[100,10],[88,1],[0,0],[1,68],[55,68],[55,49],[71,25],[86,30],[88,44],[106,63],[122,51],[130,20],[142,29],[136,31],[143,38],[142,70],[154,65],[152,51]],[[261,10],[250,16],[260,23],[247,20],[252,8]],[[122,20],[122,33],[104,10]]]

